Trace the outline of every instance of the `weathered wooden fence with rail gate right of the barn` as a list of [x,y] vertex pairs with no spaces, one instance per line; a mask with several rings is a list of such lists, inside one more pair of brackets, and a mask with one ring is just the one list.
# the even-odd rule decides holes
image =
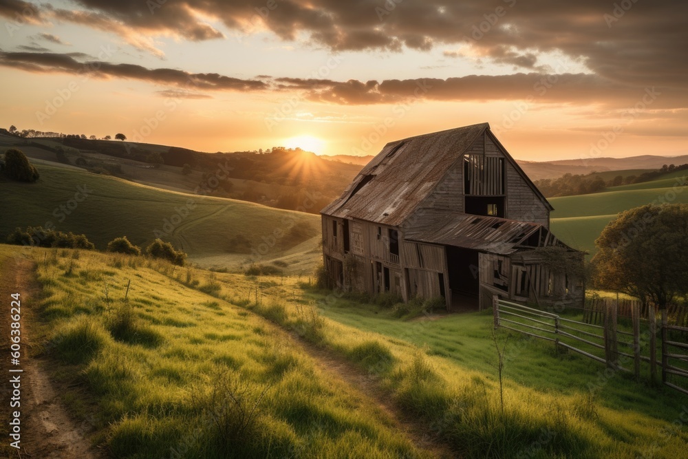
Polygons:
[[[566,348],[612,369],[632,372],[641,377],[641,366],[649,366],[649,378],[656,381],[661,368],[662,382],[688,394],[688,327],[669,325],[669,313],[662,311],[661,348],[657,347],[656,311],[646,309],[641,321],[641,303],[630,304],[631,326],[620,328],[618,308],[614,301],[605,301],[599,312],[583,311],[583,320],[528,308],[519,303],[493,297],[495,328],[514,330],[531,337],[552,341],[556,347]],[[599,319],[592,320],[597,314]],[[598,325],[598,322],[601,325]],[[678,341],[682,340],[682,341]],[[679,381],[684,383],[681,385]]]

